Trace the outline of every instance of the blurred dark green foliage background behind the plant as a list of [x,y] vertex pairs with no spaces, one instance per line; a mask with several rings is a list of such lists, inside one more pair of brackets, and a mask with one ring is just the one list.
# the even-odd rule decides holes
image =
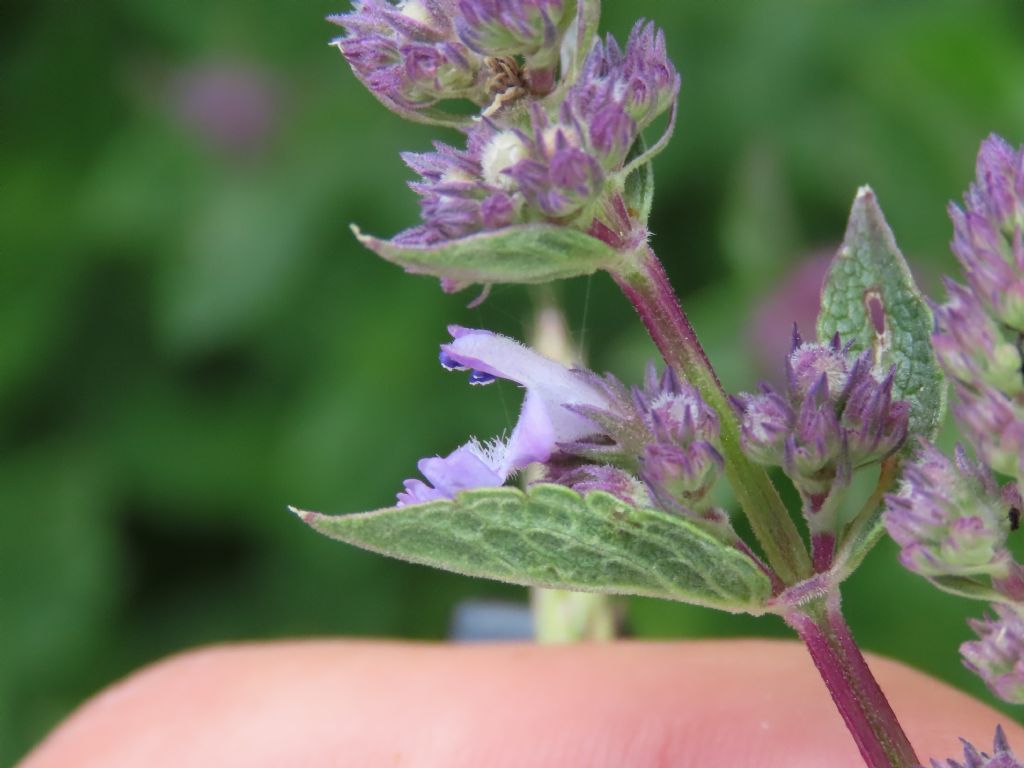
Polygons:
[[[334,2],[8,0],[0,28],[0,764],[128,671],[201,643],[440,638],[521,590],[365,554],[285,507],[388,504],[421,456],[507,428],[513,387],[436,365],[444,326],[522,336],[361,251],[417,219],[397,153],[434,130],[361,90]],[[1024,3],[607,2],[666,29],[684,75],[654,245],[732,389],[776,371],[814,267],[871,183],[924,285],[979,141],[1024,139]],[[451,137],[450,137],[451,138]],[[820,272],[818,272],[820,273]],[[768,290],[784,288],[765,308]],[[603,276],[560,287],[595,368],[651,354]],[[769,341],[763,341],[768,339]],[[880,547],[847,590],[870,650],[988,700],[956,645],[979,612]],[[644,637],[781,635],[636,600]]]

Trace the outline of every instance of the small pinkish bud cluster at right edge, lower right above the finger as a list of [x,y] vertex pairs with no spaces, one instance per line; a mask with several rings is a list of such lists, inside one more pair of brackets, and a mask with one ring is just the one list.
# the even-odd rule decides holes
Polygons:
[[969,623],[978,639],[961,645],[964,665],[1004,701],[1024,703],[1024,617],[1008,605],[992,609],[994,616]]

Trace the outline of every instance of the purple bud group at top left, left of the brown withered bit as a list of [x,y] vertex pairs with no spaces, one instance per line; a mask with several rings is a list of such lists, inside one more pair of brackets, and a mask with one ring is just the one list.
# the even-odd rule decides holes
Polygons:
[[410,116],[443,99],[487,99],[483,60],[456,36],[453,0],[353,0],[332,42],[386,106]]

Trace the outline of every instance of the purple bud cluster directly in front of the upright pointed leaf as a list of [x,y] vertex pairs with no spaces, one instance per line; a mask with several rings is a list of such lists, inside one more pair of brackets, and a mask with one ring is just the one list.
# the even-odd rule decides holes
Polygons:
[[795,331],[785,370],[783,392],[763,383],[734,404],[744,453],[782,467],[805,497],[827,494],[903,444],[909,406],[893,400],[893,372],[877,378],[870,352],[852,355],[838,335],[805,343]]

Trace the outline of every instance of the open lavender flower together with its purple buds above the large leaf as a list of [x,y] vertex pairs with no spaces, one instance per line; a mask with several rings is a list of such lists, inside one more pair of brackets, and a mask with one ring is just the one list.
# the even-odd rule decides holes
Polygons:
[[611,376],[569,369],[487,331],[453,327],[441,365],[466,371],[471,384],[508,379],[526,390],[507,440],[476,439],[447,457],[419,463],[400,504],[453,498],[460,490],[504,484],[532,463],[544,479],[580,493],[604,490],[634,504],[724,522],[709,493],[722,472],[715,412],[671,371],[653,367],[643,387],[628,390]]

